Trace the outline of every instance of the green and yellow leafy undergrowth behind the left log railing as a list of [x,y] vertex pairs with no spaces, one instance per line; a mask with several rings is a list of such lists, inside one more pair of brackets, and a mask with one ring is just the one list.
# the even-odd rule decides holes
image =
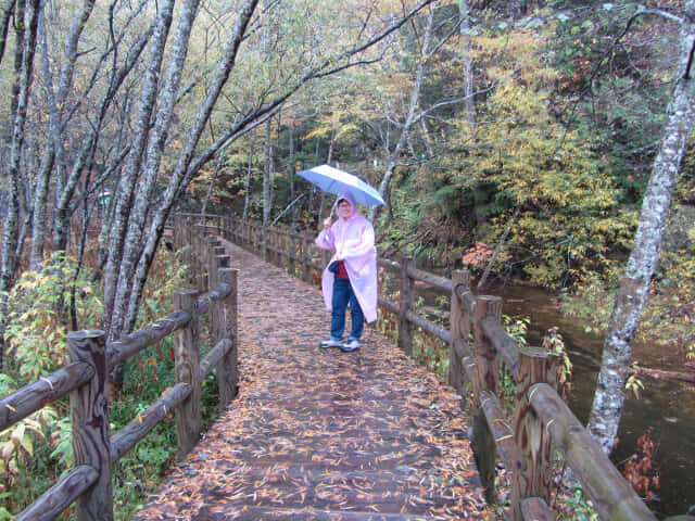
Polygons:
[[[87,256],[89,258],[89,256]],[[65,256],[53,256],[39,271],[25,271],[10,292],[8,344],[0,395],[5,396],[67,363],[66,334],[71,313],[79,329],[99,329],[101,284]],[[159,251],[144,292],[136,329],[166,317],[172,295],[187,285],[179,255]],[[73,289],[75,290],[73,293]],[[76,298],[74,305],[72,295]],[[206,323],[201,317],[202,345]],[[124,386],[110,389],[112,435],[143,412],[162,392],[175,384],[174,342],[168,336],[134,357],[125,369]],[[204,356],[205,353],[203,353]],[[202,417],[206,429],[217,414],[215,373],[203,381]],[[132,517],[154,492],[176,456],[173,415],[161,421],[113,466],[116,521]],[[12,519],[73,467],[72,428],[67,397],[35,412],[0,433],[0,520]],[[74,507],[59,519],[72,519]]]

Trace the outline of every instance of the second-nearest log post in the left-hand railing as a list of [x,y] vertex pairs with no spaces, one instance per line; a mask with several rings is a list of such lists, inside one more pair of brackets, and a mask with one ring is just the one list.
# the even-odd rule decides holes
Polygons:
[[190,385],[191,393],[176,409],[176,437],[178,459],[192,450],[201,430],[200,411],[200,331],[198,323],[197,291],[177,291],[174,303],[177,310],[188,312],[191,320],[178,331],[176,339],[176,383]]

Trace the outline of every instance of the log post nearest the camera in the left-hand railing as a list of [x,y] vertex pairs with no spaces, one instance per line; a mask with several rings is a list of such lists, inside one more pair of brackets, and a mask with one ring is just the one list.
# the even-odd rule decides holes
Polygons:
[[67,333],[67,351],[72,361],[85,361],[94,367],[94,377],[89,383],[70,394],[75,466],[86,465],[99,473],[97,483],[77,499],[77,520],[112,521],[106,336],[103,331]]

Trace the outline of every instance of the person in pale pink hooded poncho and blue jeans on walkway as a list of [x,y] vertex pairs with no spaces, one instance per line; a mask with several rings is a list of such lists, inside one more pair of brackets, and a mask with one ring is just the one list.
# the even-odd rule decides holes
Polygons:
[[[377,249],[371,223],[357,213],[357,203],[350,190],[338,196],[333,208],[338,220],[332,223],[329,216],[316,238],[318,247],[336,250],[321,280],[331,321],[330,338],[320,346],[340,347],[348,353],[359,348],[364,321],[377,319]],[[343,343],[348,304],[352,330]]]

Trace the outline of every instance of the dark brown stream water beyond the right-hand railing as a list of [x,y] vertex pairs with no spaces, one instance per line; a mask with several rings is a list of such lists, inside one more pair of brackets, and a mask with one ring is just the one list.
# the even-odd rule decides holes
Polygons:
[[[435,303],[434,291],[416,291],[426,304]],[[564,317],[556,295],[543,289],[507,285],[485,292],[503,297],[505,315],[530,319],[530,345],[541,345],[549,328],[559,328],[573,364],[570,408],[586,423],[601,366],[602,338],[586,332],[580,321]],[[659,368],[658,359],[664,355],[660,347],[637,344],[633,348],[633,359],[643,367]],[[622,470],[621,463],[637,452],[639,437],[652,429],[652,439],[658,446],[655,465],[660,485],[654,488],[658,499],[649,506],[659,518],[684,514],[690,508],[695,509],[695,385],[641,378],[645,389],[640,398],[630,395],[626,401],[612,459]]]

